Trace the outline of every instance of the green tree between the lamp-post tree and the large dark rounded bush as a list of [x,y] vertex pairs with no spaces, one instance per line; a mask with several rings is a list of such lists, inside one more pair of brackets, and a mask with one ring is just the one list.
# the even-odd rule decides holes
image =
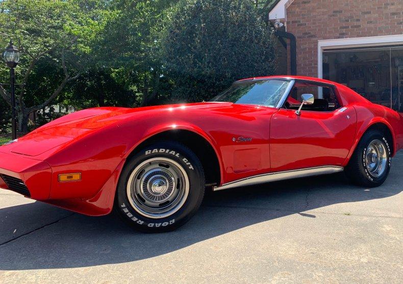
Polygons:
[[102,48],[99,64],[125,68],[132,90],[138,95],[137,105],[155,102],[167,89],[163,76],[161,32],[170,20],[177,0],[117,0],[114,17],[97,46]]

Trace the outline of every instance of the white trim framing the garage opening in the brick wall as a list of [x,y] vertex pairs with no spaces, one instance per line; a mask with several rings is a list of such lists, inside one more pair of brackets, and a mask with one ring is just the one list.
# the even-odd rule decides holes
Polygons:
[[341,47],[365,47],[382,46],[389,44],[403,44],[403,35],[339,38],[318,40],[318,78],[322,78],[322,53],[323,50]]

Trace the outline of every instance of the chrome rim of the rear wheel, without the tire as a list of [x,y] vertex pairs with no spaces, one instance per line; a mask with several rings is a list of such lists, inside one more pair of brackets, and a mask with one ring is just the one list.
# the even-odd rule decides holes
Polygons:
[[386,170],[387,161],[388,155],[384,143],[379,139],[372,140],[365,154],[365,164],[368,172],[373,177],[382,175]]

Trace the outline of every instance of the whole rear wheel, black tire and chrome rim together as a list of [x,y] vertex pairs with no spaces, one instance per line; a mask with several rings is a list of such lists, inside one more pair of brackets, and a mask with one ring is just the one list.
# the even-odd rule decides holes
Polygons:
[[351,181],[364,187],[382,185],[391,165],[390,143],[379,131],[365,133],[345,169]]

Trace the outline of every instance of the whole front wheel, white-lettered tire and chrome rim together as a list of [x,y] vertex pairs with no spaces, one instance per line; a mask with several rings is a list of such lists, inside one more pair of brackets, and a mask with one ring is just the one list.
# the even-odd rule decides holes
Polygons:
[[205,177],[196,155],[175,142],[149,145],[125,165],[116,190],[115,211],[137,230],[173,230],[197,211]]

